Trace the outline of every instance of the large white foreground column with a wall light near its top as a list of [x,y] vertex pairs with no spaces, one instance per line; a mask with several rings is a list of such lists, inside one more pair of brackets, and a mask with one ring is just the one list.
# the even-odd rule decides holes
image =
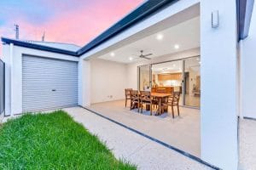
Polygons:
[[225,170],[238,163],[236,45],[236,1],[201,0],[201,158]]

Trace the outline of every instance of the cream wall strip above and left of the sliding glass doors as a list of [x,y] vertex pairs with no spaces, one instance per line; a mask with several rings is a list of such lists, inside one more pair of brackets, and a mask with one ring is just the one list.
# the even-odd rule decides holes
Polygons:
[[137,89],[137,66],[149,65],[154,63],[166,62],[175,59],[183,59],[200,55],[200,48],[189,49],[176,54],[167,54],[164,56],[157,57],[155,59],[143,59],[142,61],[131,63],[127,65],[127,86],[129,88]]

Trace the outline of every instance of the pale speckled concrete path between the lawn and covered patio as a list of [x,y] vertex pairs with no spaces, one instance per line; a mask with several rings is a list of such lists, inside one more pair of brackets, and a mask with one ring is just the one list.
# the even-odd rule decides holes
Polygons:
[[63,110],[105,142],[114,156],[136,164],[138,169],[212,169],[83,108]]

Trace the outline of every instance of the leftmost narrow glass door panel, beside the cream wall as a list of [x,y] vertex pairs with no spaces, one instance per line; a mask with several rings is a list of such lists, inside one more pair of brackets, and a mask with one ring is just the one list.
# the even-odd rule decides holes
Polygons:
[[139,69],[139,84],[138,89],[140,91],[150,90],[151,88],[151,65],[142,65]]

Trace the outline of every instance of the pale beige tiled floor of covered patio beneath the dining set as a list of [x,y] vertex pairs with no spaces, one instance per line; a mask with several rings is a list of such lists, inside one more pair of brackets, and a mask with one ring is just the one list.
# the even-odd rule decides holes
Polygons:
[[172,119],[170,112],[162,116],[150,116],[149,111],[130,111],[129,105],[125,108],[125,100],[91,105],[90,109],[200,157],[200,110],[180,107],[180,116],[175,110],[176,116]]

